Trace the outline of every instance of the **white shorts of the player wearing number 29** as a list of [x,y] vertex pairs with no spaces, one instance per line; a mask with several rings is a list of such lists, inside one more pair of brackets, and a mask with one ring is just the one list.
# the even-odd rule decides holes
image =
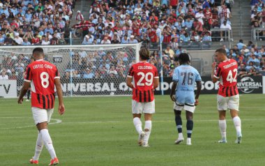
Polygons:
[[137,102],[132,100],[132,114],[154,114],[155,113],[155,100],[151,102]]

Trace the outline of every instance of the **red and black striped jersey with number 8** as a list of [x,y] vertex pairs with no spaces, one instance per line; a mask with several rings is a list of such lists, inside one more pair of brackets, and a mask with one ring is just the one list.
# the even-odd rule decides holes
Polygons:
[[52,109],[54,107],[54,80],[59,72],[52,63],[43,59],[34,61],[27,67],[25,82],[31,82],[31,107]]

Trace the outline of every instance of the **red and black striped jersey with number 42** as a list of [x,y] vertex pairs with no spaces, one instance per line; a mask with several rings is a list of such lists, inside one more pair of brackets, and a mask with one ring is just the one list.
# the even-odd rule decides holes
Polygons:
[[235,96],[239,94],[237,89],[237,68],[238,64],[234,59],[228,59],[218,64],[213,77],[220,79],[219,91],[220,96]]

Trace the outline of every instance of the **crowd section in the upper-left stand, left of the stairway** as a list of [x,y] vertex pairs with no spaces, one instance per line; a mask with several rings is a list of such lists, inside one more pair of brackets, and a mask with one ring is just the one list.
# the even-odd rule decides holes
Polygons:
[[0,2],[0,45],[69,43],[75,0]]

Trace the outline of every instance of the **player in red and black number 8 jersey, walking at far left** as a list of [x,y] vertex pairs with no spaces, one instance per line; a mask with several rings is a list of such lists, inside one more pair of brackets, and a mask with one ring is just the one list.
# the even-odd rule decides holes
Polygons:
[[47,130],[47,124],[50,122],[54,111],[54,85],[59,98],[59,114],[63,114],[65,111],[59,72],[56,66],[43,60],[44,52],[41,47],[36,47],[33,50],[33,58],[36,61],[27,67],[24,85],[22,86],[20,97],[17,100],[17,103],[22,104],[23,96],[27,93],[31,85],[31,111],[33,120],[38,128],[38,138],[35,155],[29,161],[31,164],[38,164],[38,158],[40,157],[43,145],[45,145],[52,158],[50,165],[56,165],[59,163],[59,160],[56,157],[52,139]]

